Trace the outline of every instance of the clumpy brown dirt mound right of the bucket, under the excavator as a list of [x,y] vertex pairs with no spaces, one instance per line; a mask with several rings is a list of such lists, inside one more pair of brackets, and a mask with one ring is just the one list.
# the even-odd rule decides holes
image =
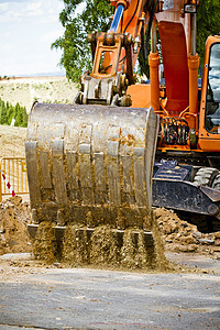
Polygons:
[[174,252],[197,252],[220,257],[220,232],[201,233],[197,227],[180,220],[172,210],[155,209],[165,249]]

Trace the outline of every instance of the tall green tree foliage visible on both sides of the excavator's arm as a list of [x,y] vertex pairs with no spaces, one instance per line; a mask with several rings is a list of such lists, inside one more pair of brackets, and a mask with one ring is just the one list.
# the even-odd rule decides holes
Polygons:
[[[86,2],[81,13],[76,14],[77,6]],[[87,34],[92,31],[107,31],[107,18],[112,14],[110,0],[64,0],[64,10],[59,20],[65,29],[64,35],[57,38],[52,48],[61,48],[61,65],[66,69],[67,78],[79,81],[85,69],[91,68],[90,45]],[[206,38],[209,34],[220,34],[220,1],[202,0],[199,4],[197,51],[202,59]],[[147,61],[140,53],[141,73],[147,74]]]

